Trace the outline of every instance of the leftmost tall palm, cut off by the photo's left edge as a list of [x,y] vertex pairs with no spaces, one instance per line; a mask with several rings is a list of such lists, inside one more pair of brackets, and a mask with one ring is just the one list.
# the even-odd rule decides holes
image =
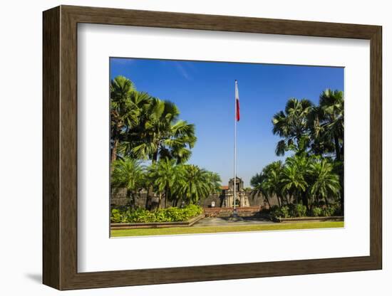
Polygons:
[[[120,143],[120,134],[130,120],[133,106],[130,105],[130,93],[135,91],[135,85],[124,76],[117,76],[110,82],[110,161],[117,159],[117,149]],[[113,169],[113,167],[112,167]]]

